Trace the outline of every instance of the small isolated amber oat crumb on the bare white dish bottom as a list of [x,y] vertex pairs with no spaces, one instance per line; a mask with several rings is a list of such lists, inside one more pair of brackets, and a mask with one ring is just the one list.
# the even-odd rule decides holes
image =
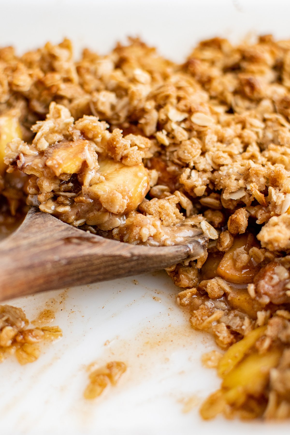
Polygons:
[[102,394],[108,385],[116,385],[127,370],[122,361],[111,361],[107,365],[93,370],[89,375],[89,384],[83,392],[85,399],[95,399]]

